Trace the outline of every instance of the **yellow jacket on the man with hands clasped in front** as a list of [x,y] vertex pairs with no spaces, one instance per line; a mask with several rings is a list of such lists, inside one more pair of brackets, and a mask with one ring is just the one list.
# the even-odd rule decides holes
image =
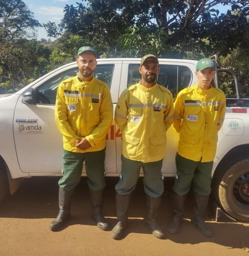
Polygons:
[[[55,102],[55,121],[63,134],[63,147],[72,152],[99,151],[113,120],[108,85],[93,77],[89,82],[78,76],[60,83]],[[85,137],[91,147],[80,150],[75,141]]]

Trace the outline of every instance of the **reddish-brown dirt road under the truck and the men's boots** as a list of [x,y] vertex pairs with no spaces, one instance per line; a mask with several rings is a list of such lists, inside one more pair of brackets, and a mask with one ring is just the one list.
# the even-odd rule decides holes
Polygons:
[[[104,213],[111,227],[116,223],[115,189],[118,178],[107,178]],[[205,238],[190,223],[191,198],[178,235],[166,232],[156,239],[144,225],[146,203],[143,181],[139,180],[129,210],[126,237],[116,241],[110,231],[99,230],[90,218],[86,178],[72,201],[72,220],[60,232],[49,230],[58,213],[58,178],[24,180],[16,194],[0,205],[0,255],[247,255],[249,224],[209,221],[214,237]],[[159,221],[166,230],[171,216],[170,198],[165,193]]]

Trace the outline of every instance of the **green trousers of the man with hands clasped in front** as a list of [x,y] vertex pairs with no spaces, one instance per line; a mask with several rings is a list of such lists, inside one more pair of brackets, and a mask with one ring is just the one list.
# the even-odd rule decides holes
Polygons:
[[63,177],[58,182],[60,188],[72,190],[79,184],[84,160],[89,189],[97,191],[105,188],[105,149],[85,153],[64,150]]

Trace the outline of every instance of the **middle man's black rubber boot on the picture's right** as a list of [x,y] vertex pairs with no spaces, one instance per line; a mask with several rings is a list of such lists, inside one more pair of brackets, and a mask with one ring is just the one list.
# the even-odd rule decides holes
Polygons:
[[156,221],[156,216],[159,212],[160,204],[161,204],[161,196],[158,196],[157,198],[153,198],[147,195],[148,214],[145,219],[145,223],[146,225],[148,225],[152,234],[156,238],[164,238],[164,233],[162,232],[162,229],[159,227],[159,224]]

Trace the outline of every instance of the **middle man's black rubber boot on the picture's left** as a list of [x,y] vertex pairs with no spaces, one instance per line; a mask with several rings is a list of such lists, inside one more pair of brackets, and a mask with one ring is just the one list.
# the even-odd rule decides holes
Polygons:
[[113,230],[111,230],[111,237],[113,239],[121,239],[124,234],[124,230],[127,227],[128,222],[128,207],[130,201],[130,194],[120,195],[116,193],[116,216],[118,218],[118,223],[115,225]]

